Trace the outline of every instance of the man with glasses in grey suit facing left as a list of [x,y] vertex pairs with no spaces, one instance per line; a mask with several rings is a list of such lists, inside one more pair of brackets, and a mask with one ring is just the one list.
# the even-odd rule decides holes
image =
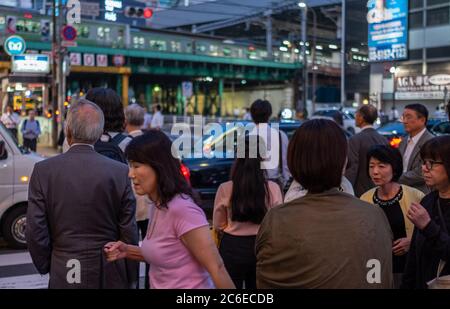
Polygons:
[[399,182],[414,187],[424,192],[430,192],[425,185],[422,175],[422,159],[420,158],[420,148],[426,141],[434,136],[427,131],[428,110],[422,104],[410,104],[405,106],[402,116],[405,137],[400,143],[399,150],[403,157],[403,175]]

